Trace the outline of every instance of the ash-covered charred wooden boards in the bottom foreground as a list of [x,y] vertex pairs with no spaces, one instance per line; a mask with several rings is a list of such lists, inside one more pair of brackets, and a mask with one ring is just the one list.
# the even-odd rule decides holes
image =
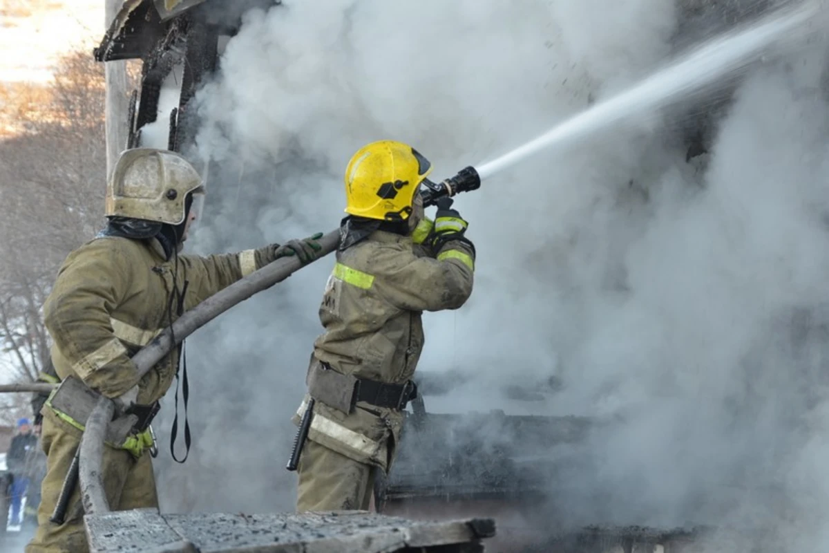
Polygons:
[[161,515],[155,509],[85,517],[91,553],[479,553],[491,519],[410,521],[370,512]]

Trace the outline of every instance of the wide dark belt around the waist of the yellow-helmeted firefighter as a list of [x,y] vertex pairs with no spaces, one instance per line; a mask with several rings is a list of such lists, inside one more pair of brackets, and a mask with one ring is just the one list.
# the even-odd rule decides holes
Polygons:
[[417,385],[413,381],[388,384],[344,375],[316,357],[311,358],[306,382],[311,397],[344,413],[351,413],[358,401],[400,411],[417,397]]

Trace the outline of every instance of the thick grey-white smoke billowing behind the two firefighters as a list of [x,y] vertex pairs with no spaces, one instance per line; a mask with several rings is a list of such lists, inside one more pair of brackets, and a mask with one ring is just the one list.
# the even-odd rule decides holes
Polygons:
[[[448,177],[631,84],[671,54],[679,12],[611,3],[249,12],[198,96],[197,156],[214,184],[191,247],[331,230],[364,143],[412,143]],[[825,54],[817,41],[772,56],[727,109],[691,110],[723,114],[691,163],[680,130],[693,121],[651,118],[456,201],[478,246],[476,289],[458,312],[425,317],[420,369],[476,382],[427,408],[621,421],[591,435],[592,463],[556,492],[566,523],[773,526],[812,551],[829,541]],[[184,468],[160,469],[165,510],[293,508],[288,419],[331,264],[191,339],[196,441]],[[551,375],[564,389],[545,402],[492,391]]]

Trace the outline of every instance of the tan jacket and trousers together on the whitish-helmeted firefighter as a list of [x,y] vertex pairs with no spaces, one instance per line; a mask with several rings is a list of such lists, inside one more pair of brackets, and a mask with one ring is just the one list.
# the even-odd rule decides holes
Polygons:
[[[138,384],[138,404],[159,400],[176,376],[178,352],[159,361],[140,381],[130,357],[180,313],[274,260],[275,250],[269,245],[240,254],[199,257],[165,250],[158,238],[99,235],[66,258],[46,300],[44,314],[54,341],[57,375],[62,381],[75,376],[109,397]],[[89,551],[80,487],[70,496],[65,521],[51,521],[85,421],[74,412],[78,405],[56,405],[58,399],[51,395],[43,408],[42,444],[48,466],[28,553]],[[131,421],[119,417],[109,429],[119,420]],[[158,508],[153,464],[145,454],[153,444],[149,429],[135,429],[125,441],[107,444],[102,469],[109,507],[114,511]]]

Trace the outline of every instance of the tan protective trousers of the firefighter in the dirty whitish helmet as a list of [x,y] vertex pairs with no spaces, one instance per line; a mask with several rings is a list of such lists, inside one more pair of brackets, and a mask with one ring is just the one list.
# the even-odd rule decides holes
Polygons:
[[[84,507],[80,502],[80,483],[75,487],[66,509],[65,521],[57,525],[49,518],[61,495],[63,481],[80,432],[43,410],[43,450],[46,452],[46,478],[41,485],[41,505],[37,509],[37,531],[26,546],[26,553],[87,553],[90,548],[84,528]],[[123,449],[104,448],[104,490],[113,511],[158,507],[153,463],[149,454],[134,458]]]

